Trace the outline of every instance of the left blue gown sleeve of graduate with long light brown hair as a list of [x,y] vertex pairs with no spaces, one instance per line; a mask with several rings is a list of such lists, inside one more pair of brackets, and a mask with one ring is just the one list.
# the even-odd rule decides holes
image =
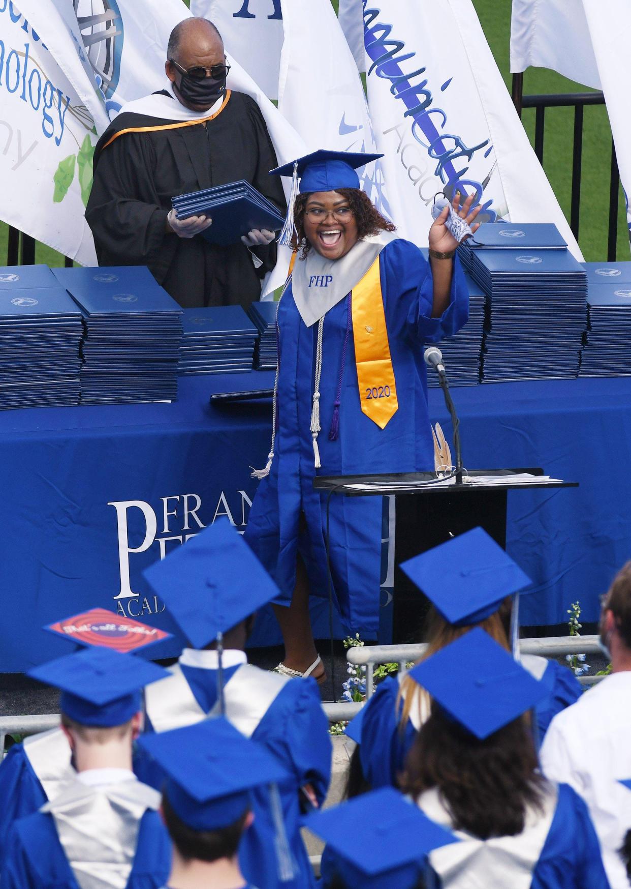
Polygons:
[[361,724],[361,770],[372,789],[397,787],[407,751],[416,731],[409,721],[403,732],[398,723],[398,682],[388,678],[377,686],[367,702]]

